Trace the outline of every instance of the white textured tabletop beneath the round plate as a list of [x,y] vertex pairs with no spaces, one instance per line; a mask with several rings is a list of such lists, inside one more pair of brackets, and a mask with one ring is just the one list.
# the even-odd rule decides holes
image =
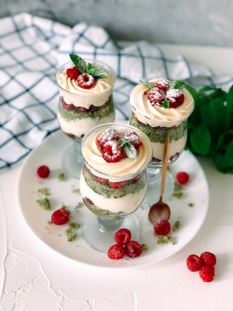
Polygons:
[[[180,52],[187,52],[188,57],[188,50]],[[196,59],[201,60],[209,48],[195,47],[195,51]],[[213,64],[221,55],[215,52],[213,49],[209,58]],[[223,66],[222,72],[227,74],[230,69],[223,63],[226,71]],[[44,245],[31,233],[19,209],[22,164],[1,170],[0,310],[232,311],[233,175],[218,172],[210,159],[198,160],[210,190],[209,210],[200,231],[168,259],[129,269],[86,266]],[[207,250],[218,260],[211,283],[202,282],[185,264],[189,254]]]

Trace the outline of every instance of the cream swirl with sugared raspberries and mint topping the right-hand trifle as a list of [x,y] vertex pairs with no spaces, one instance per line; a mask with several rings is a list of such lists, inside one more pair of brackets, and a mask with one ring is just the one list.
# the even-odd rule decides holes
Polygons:
[[194,100],[183,82],[162,78],[141,82],[130,94],[133,113],[140,122],[151,127],[172,127],[192,113]]

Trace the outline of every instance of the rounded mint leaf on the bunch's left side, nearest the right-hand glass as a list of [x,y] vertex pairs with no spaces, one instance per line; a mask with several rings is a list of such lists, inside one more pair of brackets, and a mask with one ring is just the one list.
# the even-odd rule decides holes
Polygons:
[[211,136],[204,124],[200,124],[190,133],[190,144],[193,151],[201,156],[207,156],[211,146]]

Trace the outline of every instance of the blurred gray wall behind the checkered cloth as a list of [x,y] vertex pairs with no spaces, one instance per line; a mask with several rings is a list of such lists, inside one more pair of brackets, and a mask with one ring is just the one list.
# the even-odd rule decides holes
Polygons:
[[21,12],[117,40],[233,47],[233,0],[0,0],[0,17]]

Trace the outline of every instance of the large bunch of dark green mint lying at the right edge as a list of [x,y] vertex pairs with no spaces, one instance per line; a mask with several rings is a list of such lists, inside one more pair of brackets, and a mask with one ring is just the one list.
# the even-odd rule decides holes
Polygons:
[[229,92],[210,86],[199,91],[189,85],[185,88],[195,101],[186,148],[213,158],[219,171],[233,174],[233,85]]

